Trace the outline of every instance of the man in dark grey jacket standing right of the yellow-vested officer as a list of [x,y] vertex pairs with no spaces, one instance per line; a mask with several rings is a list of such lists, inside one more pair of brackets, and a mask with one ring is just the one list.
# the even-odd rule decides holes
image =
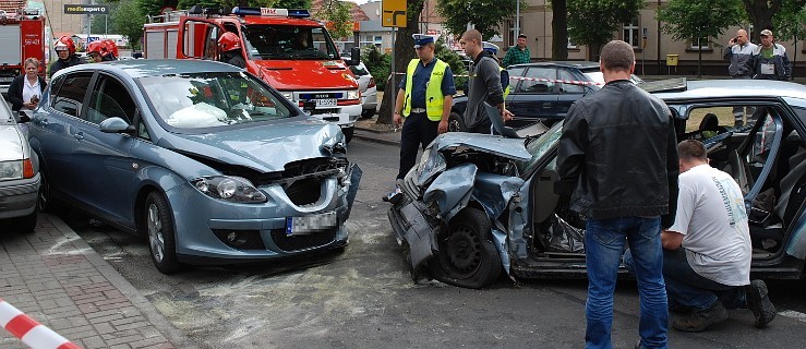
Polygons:
[[473,59],[470,64],[468,103],[465,109],[467,132],[490,133],[492,122],[482,106],[484,101],[496,106],[504,121],[513,119],[513,113],[504,108],[498,62],[483,49],[481,33],[477,29],[465,32],[459,44],[465,48],[465,53]]

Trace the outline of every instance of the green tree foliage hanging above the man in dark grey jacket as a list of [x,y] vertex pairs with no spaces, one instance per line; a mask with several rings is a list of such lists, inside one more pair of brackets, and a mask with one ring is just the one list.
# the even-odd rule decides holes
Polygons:
[[515,13],[516,1],[526,8],[525,0],[437,0],[436,11],[450,33],[465,33],[468,23],[472,23],[483,38],[491,38],[501,33],[502,20]]

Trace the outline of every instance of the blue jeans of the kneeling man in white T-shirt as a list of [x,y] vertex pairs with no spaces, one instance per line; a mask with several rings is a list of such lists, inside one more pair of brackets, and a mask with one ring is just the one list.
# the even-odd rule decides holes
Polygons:
[[[635,266],[629,251],[624,253],[624,265],[630,270]],[[717,301],[726,309],[747,308],[744,287],[722,285],[700,276],[688,264],[683,248],[663,250],[663,278],[672,309],[706,310]]]

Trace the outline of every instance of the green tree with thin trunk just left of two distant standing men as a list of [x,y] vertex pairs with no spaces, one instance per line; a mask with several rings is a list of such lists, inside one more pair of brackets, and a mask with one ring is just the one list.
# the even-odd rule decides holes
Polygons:
[[[702,40],[713,43],[741,17],[742,9],[735,0],[670,0],[658,9],[663,33],[678,41],[699,40],[699,46],[705,46]],[[701,77],[702,50],[699,50],[698,60],[697,77]]]

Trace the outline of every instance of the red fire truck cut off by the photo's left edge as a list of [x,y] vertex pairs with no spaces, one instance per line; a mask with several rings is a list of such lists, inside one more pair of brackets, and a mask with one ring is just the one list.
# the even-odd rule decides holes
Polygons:
[[[45,17],[39,9],[17,9],[14,13],[0,12],[0,92],[9,92],[14,76],[25,70],[23,61],[36,58],[45,62]],[[39,73],[45,73],[45,63]]]

